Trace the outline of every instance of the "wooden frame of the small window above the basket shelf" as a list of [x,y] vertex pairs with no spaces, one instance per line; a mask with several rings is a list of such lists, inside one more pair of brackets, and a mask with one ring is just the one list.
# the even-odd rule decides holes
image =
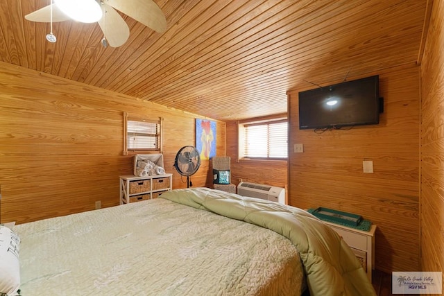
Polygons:
[[[128,121],[139,121],[144,123],[155,123],[159,125],[158,133],[154,137],[157,138],[156,148],[128,148]],[[148,133],[147,133],[148,134]],[[136,154],[151,154],[162,153],[162,139],[163,139],[163,118],[157,117],[156,119],[148,119],[139,114],[128,114],[123,112],[123,155],[136,155]]]

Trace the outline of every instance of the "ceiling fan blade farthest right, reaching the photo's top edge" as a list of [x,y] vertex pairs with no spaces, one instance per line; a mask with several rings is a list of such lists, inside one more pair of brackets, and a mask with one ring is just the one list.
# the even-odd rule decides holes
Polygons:
[[158,33],[167,30],[167,19],[153,0],[107,0],[105,3]]

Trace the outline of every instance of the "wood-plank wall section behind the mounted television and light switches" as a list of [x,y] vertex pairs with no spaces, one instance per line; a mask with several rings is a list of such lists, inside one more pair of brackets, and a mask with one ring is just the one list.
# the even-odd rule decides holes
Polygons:
[[[303,153],[289,154],[289,203],[364,216],[377,225],[375,268],[419,270],[419,69],[348,80],[377,74],[384,97],[379,125],[299,130],[298,92],[306,89],[289,92],[289,146],[304,145]],[[363,173],[364,159],[373,160],[373,174]]]

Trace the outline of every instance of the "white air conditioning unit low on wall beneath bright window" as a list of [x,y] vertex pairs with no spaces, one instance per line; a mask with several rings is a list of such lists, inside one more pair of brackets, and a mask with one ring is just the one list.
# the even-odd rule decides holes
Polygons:
[[237,194],[285,204],[285,189],[280,187],[240,182],[237,185]]

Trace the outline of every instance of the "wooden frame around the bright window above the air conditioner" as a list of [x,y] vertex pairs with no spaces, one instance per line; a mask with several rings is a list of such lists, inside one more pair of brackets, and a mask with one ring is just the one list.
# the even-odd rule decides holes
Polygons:
[[[252,125],[270,125],[273,123],[287,123],[287,145],[285,149],[287,150],[287,157],[246,157],[245,156],[245,141],[246,141],[246,130],[245,128]],[[287,114],[279,114],[277,116],[268,116],[266,118],[260,119],[246,119],[244,121],[237,121],[237,134],[238,134],[238,161],[266,161],[266,162],[287,162],[289,159],[289,121]],[[268,142],[268,140],[267,140]],[[268,155],[268,148],[267,148]]]

